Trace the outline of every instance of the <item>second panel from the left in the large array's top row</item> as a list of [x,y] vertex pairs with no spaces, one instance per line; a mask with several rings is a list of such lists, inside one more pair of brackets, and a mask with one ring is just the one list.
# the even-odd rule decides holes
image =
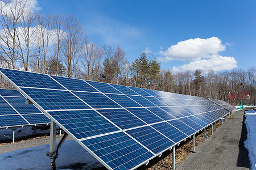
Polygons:
[[88,83],[84,82],[84,80],[64,78],[61,76],[51,76],[51,77],[57,80],[57,82],[62,84],[68,90],[98,92],[95,88],[90,86]]

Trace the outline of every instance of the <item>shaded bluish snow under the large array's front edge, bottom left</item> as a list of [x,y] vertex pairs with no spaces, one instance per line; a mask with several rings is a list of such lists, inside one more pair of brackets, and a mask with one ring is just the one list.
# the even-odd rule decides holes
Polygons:
[[[52,159],[46,156],[48,151],[49,145],[41,145],[0,154],[0,169],[51,169]],[[103,167],[76,141],[65,141],[59,149],[56,167],[72,169],[71,167],[76,164],[81,164],[82,169]]]

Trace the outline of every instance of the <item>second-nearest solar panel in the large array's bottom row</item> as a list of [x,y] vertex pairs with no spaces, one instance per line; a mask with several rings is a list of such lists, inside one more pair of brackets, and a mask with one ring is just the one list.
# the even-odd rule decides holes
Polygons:
[[155,154],[158,154],[175,144],[150,126],[127,130],[126,132]]

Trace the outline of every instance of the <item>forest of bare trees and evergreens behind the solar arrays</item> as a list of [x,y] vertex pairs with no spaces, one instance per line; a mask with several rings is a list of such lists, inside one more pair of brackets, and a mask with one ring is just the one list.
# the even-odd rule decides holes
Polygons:
[[[174,72],[161,68],[157,59],[149,59],[144,52],[129,61],[120,45],[98,46],[89,40],[74,14],[43,15],[31,10],[26,0],[4,1],[0,12],[0,67],[209,97],[230,104],[255,101],[255,67]],[[13,87],[1,76],[0,88]],[[243,92],[249,96],[238,95]]]

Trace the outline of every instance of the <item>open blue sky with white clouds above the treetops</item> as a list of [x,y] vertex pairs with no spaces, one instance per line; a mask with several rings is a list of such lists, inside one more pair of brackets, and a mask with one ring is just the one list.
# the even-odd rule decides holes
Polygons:
[[38,6],[43,14],[76,14],[90,41],[119,44],[130,62],[145,51],[170,70],[256,63],[256,1],[39,0]]

